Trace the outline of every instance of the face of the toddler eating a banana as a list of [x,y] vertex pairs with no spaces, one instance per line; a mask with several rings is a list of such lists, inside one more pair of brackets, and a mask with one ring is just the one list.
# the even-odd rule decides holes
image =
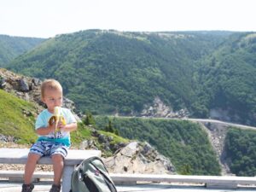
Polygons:
[[62,105],[62,91],[61,90],[44,90],[44,97],[42,98],[50,113],[54,113],[55,107]]

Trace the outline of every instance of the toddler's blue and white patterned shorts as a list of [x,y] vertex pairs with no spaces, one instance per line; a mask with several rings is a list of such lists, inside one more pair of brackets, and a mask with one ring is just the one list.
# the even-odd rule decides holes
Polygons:
[[39,141],[32,145],[29,153],[39,154],[43,156],[52,156],[54,154],[61,154],[63,158],[67,156],[67,146],[62,143],[48,142],[48,141]]

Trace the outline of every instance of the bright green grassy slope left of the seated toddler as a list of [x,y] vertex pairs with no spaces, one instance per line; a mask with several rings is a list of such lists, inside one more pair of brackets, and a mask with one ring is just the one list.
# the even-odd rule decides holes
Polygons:
[[17,143],[33,143],[36,107],[0,90],[0,134],[15,137]]

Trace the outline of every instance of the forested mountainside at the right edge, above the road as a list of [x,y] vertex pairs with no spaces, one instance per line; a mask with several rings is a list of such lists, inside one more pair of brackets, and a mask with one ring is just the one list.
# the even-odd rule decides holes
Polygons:
[[201,116],[217,109],[222,119],[256,125],[256,33],[231,35],[199,61],[195,77]]

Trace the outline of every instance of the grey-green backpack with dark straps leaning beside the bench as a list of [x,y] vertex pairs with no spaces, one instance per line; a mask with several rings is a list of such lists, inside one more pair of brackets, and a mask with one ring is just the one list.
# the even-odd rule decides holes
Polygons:
[[99,157],[83,160],[71,177],[70,192],[117,192],[108,170]]

